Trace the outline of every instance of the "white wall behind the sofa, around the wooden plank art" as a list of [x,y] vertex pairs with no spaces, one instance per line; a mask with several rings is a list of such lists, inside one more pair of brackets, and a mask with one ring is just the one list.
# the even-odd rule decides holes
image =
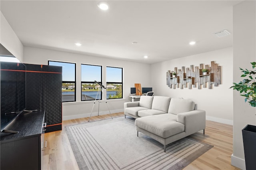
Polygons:
[[[196,47],[196,46],[195,46]],[[229,89],[232,86],[232,47],[200,53],[170,61],[164,61],[151,65],[151,84],[155,95],[170,96],[173,98],[183,97],[191,99],[198,104],[198,109],[206,111],[206,119],[232,125],[233,120],[233,91]],[[212,89],[203,88],[176,88],[170,89],[166,85],[166,72],[174,71],[174,67],[181,69],[190,65],[200,66],[210,65],[215,61],[221,66],[221,84]]]

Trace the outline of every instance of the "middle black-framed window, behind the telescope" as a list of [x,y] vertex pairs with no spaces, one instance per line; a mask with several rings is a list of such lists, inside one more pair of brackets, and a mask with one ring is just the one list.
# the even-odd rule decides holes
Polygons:
[[81,101],[102,99],[100,85],[102,84],[102,66],[81,64]]

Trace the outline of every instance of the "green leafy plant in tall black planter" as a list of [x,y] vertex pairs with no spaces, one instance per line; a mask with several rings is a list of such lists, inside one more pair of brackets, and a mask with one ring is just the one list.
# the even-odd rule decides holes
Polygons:
[[[256,62],[252,62],[251,64],[254,69]],[[233,83],[233,86],[230,88],[239,91],[240,95],[245,97],[245,102],[248,102],[252,107],[256,107],[256,70],[239,69],[242,72],[241,77],[245,77],[245,79],[239,83]],[[256,126],[246,125],[242,129],[242,136],[246,170],[253,170],[255,169],[256,158]]]

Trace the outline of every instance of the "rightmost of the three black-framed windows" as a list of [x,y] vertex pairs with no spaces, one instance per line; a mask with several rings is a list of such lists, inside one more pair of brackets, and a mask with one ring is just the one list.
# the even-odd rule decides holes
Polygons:
[[123,69],[106,67],[107,99],[123,98]]

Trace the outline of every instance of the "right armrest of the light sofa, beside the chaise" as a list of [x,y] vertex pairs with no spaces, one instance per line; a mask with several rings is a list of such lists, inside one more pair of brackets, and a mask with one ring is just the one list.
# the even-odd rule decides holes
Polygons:
[[194,110],[177,115],[177,121],[185,125],[186,136],[205,129],[206,115],[203,110]]

